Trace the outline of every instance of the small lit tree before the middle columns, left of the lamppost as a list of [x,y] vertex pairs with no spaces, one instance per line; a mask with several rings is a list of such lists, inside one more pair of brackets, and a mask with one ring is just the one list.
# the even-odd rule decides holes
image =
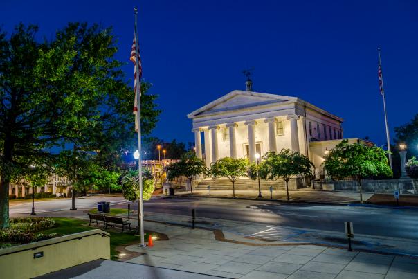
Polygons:
[[248,159],[233,159],[225,157],[210,165],[210,177],[226,177],[233,183],[233,197],[235,197],[235,181],[248,174]]

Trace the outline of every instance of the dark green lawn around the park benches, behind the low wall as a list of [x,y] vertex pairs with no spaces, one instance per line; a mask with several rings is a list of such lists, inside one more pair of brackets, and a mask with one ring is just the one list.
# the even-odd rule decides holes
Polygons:
[[[126,209],[119,209],[113,208],[113,213],[120,214],[125,213],[125,211],[121,211]],[[117,213],[116,213],[117,212]],[[94,229],[94,226],[85,226],[88,224],[86,220],[82,219],[72,219],[72,218],[52,218],[57,223],[55,228],[49,228],[45,231],[39,231],[39,233],[59,233],[60,235],[70,235],[71,233],[81,233],[83,231],[90,231]],[[102,229],[102,226],[98,226],[97,228]],[[126,233],[116,233],[113,231],[107,231],[110,233],[110,254],[111,259],[116,260],[118,259],[118,252],[116,251],[116,247],[121,245],[128,245],[128,244],[135,244],[140,241],[140,237],[138,235],[134,235],[135,231],[128,231]],[[148,239],[148,234],[145,233],[145,240]]]

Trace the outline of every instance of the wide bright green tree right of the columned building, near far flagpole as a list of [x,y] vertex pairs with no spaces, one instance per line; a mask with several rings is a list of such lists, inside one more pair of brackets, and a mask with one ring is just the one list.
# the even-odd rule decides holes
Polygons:
[[344,177],[355,179],[360,190],[360,201],[363,203],[362,179],[377,175],[392,175],[386,153],[381,147],[369,147],[360,143],[349,144],[344,140],[329,151],[322,165],[332,179]]

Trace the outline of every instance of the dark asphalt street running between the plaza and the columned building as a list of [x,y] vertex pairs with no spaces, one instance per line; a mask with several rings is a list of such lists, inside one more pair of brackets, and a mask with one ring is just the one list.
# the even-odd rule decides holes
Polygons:
[[[79,210],[96,207],[97,201],[111,201],[112,207],[124,208],[122,197],[86,197],[76,200]],[[38,213],[69,210],[71,199],[54,199],[35,203]],[[30,213],[30,202],[10,203],[10,215]],[[132,204],[136,209],[136,204]],[[207,199],[198,197],[153,198],[145,202],[145,212],[191,215],[198,217],[289,226],[321,231],[343,231],[345,221],[354,222],[354,232],[364,235],[399,237],[418,240],[418,210],[331,206],[314,204],[283,204],[269,201]]]

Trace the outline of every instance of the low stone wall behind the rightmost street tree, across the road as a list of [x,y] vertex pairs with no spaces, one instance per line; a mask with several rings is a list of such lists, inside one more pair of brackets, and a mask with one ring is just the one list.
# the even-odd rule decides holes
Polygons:
[[[313,181],[311,186],[317,190],[358,191],[357,182],[352,180],[327,183]],[[412,179],[363,180],[362,188],[363,192],[393,194],[395,190],[400,190],[400,194],[418,195],[418,181]]]

